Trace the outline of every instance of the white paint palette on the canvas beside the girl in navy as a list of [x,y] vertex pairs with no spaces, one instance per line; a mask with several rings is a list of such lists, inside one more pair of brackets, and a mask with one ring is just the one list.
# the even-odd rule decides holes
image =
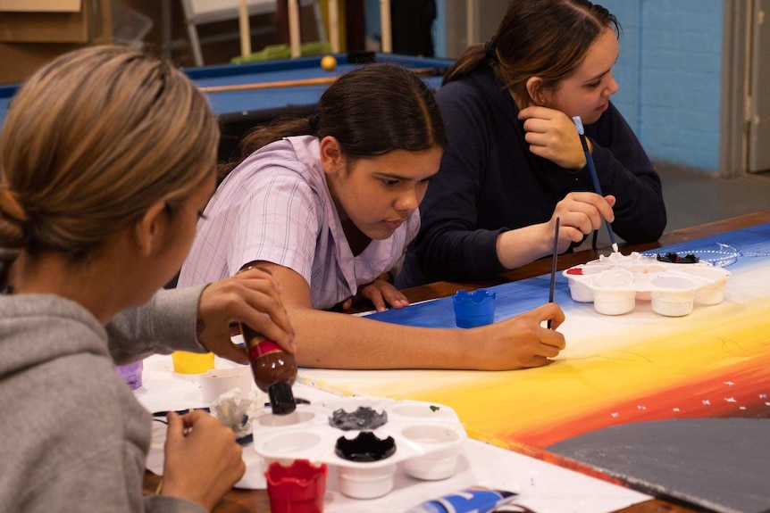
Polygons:
[[598,260],[573,266],[562,273],[573,301],[593,302],[604,315],[622,315],[637,300],[649,301],[652,310],[668,317],[688,315],[695,304],[718,304],[732,275],[707,262],[671,263],[632,252],[613,252]]

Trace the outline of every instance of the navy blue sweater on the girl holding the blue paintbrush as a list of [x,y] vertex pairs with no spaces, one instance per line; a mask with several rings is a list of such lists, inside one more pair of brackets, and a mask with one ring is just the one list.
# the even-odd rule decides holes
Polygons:
[[[513,98],[491,70],[439,88],[448,147],[428,186],[423,226],[410,245],[398,287],[480,280],[504,268],[496,241],[506,230],[548,221],[573,191],[593,191],[588,168],[565,170],[529,151]],[[613,194],[615,235],[657,240],[665,228],[660,178],[632,129],[610,103],[585,132],[602,193]]]

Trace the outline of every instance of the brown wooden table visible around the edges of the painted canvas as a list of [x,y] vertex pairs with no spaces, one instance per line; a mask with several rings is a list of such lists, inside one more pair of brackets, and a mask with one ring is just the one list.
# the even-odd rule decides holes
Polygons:
[[[724,219],[713,223],[699,225],[692,228],[683,228],[664,234],[656,243],[650,244],[625,244],[621,245],[623,252],[649,252],[659,247],[679,244],[682,242],[699,239],[705,236],[714,236],[720,233],[748,228],[759,224],[770,222],[770,211],[747,214],[741,217]],[[606,248],[602,248],[606,252]],[[586,250],[570,254],[560,255],[558,259],[558,268],[567,269],[573,265],[584,263],[586,261],[598,259],[599,252]],[[549,273],[551,270],[551,261],[549,258],[540,261],[534,261],[531,264],[523,266],[501,275],[499,280],[490,280],[486,282],[438,282],[429,285],[421,285],[406,289],[404,293],[411,302],[425,301],[438,297],[446,297],[454,294],[458,288],[473,290],[481,286],[499,285],[508,281],[516,281],[529,277],[536,277]],[[146,493],[154,493],[159,482],[159,477],[145,472],[144,490]],[[427,499],[427,498],[426,498]],[[233,489],[228,492],[224,499],[213,509],[214,513],[268,513],[270,511],[270,502],[267,492],[264,490],[239,490]],[[691,509],[670,501],[654,499],[650,501],[634,504],[629,508],[622,509],[617,513],[694,513],[700,509]]]

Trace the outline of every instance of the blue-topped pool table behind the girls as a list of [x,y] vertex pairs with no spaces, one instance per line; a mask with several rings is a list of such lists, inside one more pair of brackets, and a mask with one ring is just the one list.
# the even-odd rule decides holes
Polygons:
[[[364,62],[394,62],[412,69],[436,70],[435,76],[425,76],[431,87],[439,87],[441,73],[453,61],[448,59],[412,57],[397,54],[336,54],[337,68],[322,70],[321,56],[297,59],[229,64],[185,69],[199,87],[234,86],[257,82],[313,79],[331,77],[352,70]],[[0,86],[0,126],[5,119],[8,104],[19,85]],[[213,112],[220,119],[222,142],[220,159],[230,158],[239,138],[259,123],[286,114],[309,114],[317,109],[317,102],[327,86],[280,87],[231,92],[208,93]]]

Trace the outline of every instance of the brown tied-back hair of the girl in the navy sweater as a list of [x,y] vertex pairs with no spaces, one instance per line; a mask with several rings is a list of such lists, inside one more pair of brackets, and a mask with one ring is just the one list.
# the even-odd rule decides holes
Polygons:
[[514,0],[487,45],[475,45],[448,70],[444,84],[489,66],[516,97],[527,96],[531,77],[554,87],[582,62],[607,29],[621,32],[615,15],[588,0]]

